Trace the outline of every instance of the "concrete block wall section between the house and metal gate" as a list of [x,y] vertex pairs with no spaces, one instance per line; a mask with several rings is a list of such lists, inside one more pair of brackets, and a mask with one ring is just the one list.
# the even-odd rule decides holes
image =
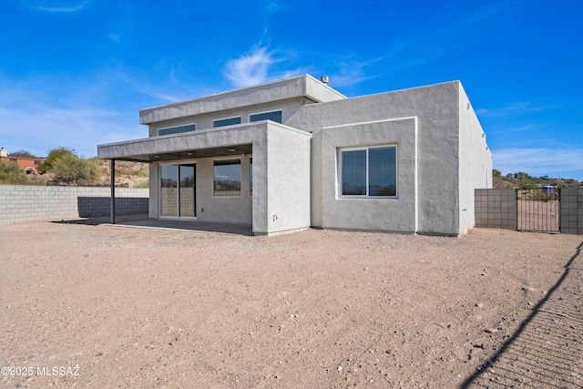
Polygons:
[[476,189],[476,227],[517,230],[516,189]]

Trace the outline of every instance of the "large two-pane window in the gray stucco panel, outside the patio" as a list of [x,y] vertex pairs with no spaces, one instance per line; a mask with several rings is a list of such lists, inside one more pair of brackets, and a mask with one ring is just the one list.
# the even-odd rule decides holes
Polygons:
[[341,149],[339,180],[341,197],[396,197],[396,146]]

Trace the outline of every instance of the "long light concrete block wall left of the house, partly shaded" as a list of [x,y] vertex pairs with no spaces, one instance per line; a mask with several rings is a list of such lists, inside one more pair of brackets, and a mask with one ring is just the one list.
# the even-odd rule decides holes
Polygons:
[[[148,189],[116,188],[116,213],[148,213]],[[0,185],[0,224],[108,216],[109,188]]]

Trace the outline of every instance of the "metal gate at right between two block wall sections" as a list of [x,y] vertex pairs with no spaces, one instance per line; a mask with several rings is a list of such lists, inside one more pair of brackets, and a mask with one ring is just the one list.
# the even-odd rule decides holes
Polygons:
[[560,232],[560,189],[517,190],[517,230]]

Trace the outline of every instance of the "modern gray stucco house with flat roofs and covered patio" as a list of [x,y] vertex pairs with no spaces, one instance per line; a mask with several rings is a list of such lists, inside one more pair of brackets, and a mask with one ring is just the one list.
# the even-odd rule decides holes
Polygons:
[[98,158],[150,164],[149,217],[459,235],[492,153],[459,81],[345,97],[309,75],[143,109],[148,138]]

